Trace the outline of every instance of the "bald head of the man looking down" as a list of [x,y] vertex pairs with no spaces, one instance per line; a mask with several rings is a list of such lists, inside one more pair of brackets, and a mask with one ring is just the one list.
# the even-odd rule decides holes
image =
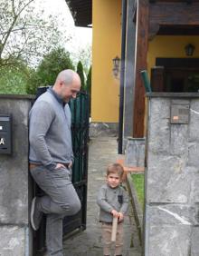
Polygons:
[[79,74],[71,69],[65,69],[58,74],[52,90],[58,94],[66,103],[71,98],[76,98],[77,93],[81,90],[81,78]]

